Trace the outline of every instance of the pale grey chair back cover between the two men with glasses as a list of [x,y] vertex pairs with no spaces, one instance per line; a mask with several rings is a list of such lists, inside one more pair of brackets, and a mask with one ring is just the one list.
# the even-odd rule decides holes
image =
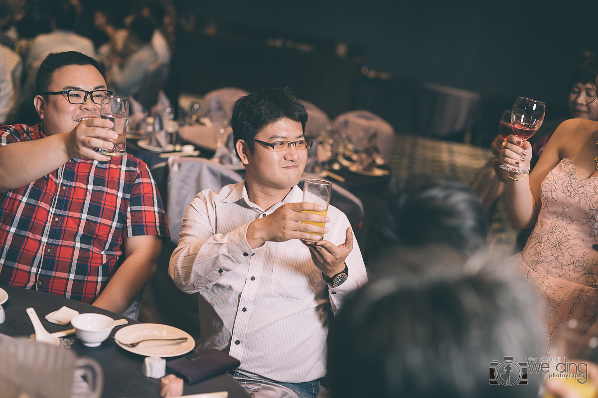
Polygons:
[[170,239],[178,243],[183,216],[195,195],[208,188],[216,192],[225,185],[242,180],[240,174],[208,159],[170,157],[166,204]]

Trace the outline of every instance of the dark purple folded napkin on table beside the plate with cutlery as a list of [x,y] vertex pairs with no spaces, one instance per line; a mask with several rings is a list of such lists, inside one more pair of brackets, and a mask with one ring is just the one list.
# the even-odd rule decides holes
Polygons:
[[200,353],[194,352],[187,357],[170,360],[166,363],[166,368],[181,376],[188,384],[194,384],[236,369],[240,365],[238,359],[211,348]]

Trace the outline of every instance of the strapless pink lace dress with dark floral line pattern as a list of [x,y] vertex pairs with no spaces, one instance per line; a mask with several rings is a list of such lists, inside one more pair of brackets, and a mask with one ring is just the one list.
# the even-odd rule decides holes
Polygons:
[[541,292],[549,344],[569,319],[598,317],[598,177],[578,180],[563,159],[541,185],[542,208],[518,258],[520,271]]

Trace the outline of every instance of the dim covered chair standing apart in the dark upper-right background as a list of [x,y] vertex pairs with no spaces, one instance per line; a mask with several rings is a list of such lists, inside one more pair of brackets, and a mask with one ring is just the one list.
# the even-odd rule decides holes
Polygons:
[[416,128],[429,137],[471,132],[481,105],[479,93],[436,84],[422,84],[416,100]]

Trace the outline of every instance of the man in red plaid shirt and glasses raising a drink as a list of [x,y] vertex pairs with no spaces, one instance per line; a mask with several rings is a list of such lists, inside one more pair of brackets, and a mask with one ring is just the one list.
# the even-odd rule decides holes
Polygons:
[[36,88],[42,123],[0,127],[0,284],[123,313],[169,238],[160,195],[141,160],[94,151],[117,134],[93,59],[50,54]]

